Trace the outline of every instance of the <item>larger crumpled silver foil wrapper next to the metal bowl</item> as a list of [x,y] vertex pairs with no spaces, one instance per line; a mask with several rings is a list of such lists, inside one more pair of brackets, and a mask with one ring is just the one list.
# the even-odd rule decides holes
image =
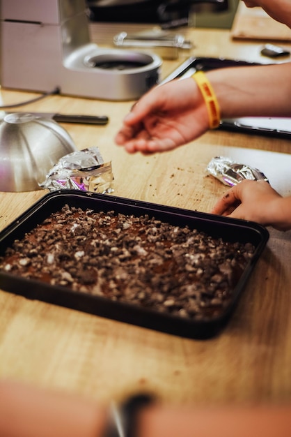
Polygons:
[[49,191],[75,189],[93,193],[112,193],[111,161],[104,163],[98,147],[73,151],[49,170],[40,186]]

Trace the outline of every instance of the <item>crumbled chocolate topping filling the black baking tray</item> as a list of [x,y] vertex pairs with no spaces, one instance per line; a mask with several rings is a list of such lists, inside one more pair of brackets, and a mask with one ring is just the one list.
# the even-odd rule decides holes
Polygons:
[[65,205],[0,258],[0,269],[72,291],[191,319],[219,315],[252,244],[133,216]]

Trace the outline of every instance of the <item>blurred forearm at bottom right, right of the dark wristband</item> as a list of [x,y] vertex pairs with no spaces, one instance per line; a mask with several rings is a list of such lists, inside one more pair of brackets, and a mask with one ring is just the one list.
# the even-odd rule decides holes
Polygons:
[[289,437],[286,407],[150,408],[141,413],[139,437]]

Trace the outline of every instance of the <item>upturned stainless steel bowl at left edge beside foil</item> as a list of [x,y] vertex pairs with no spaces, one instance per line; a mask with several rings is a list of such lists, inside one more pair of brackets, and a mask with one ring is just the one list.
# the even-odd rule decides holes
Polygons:
[[59,158],[76,150],[56,121],[6,114],[0,122],[0,191],[39,190]]

